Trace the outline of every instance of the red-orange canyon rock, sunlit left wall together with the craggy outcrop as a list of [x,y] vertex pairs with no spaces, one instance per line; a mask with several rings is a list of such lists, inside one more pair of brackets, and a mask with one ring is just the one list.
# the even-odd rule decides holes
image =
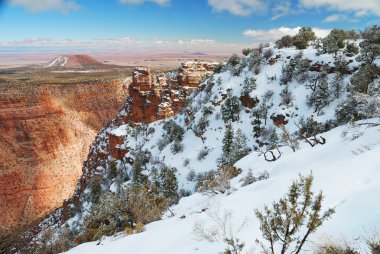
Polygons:
[[[80,191],[83,165],[94,157],[118,159],[126,153],[112,134],[106,154],[89,150],[110,120],[149,123],[172,117],[215,65],[187,62],[171,73],[137,67],[132,78],[70,84],[1,84],[0,205],[7,213],[0,215],[0,237],[24,231]],[[71,80],[73,74],[66,75]]]

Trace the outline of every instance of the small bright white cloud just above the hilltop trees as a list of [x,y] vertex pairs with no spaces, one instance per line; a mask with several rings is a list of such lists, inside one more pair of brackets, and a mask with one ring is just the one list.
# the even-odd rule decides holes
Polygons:
[[[257,41],[275,41],[280,39],[282,36],[291,35],[294,36],[298,33],[301,27],[279,27],[269,30],[254,30],[248,29],[243,32],[245,37],[253,38]],[[321,29],[314,27],[312,28],[317,37],[326,37],[330,33],[330,29]]]

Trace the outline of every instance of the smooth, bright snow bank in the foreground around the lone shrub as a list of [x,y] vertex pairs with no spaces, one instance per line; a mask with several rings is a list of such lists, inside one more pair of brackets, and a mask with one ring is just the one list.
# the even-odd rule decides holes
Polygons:
[[[379,124],[379,119],[361,121],[359,124],[364,123]],[[361,136],[354,140],[351,140],[350,134],[343,137],[342,133],[347,130]],[[254,172],[268,170],[269,179],[240,187],[238,177],[233,179],[237,190],[230,195],[194,194],[171,208],[174,217],[147,225],[143,233],[131,236],[120,234],[82,244],[67,253],[218,253],[225,249],[223,241],[200,241],[193,234],[193,229],[200,222],[205,223],[206,227],[218,228],[212,214],[217,212],[222,216],[226,211],[232,215],[227,223],[228,236],[232,233],[244,241],[247,253],[259,253],[254,239],[261,236],[254,209],[262,209],[277,200],[298,174],[307,175],[310,172],[314,176],[315,192],[323,190],[326,196],[324,207],[336,207],[336,214],[317,231],[313,240],[330,235],[352,239],[361,235],[364,229],[380,225],[380,203],[374,202],[380,195],[379,132],[379,126],[370,124],[355,129],[338,127],[323,134],[327,139],[325,145],[311,148],[303,144],[295,153],[284,150],[282,159],[273,163],[266,162],[253,152],[236,165],[244,169],[242,175],[249,169]],[[208,210],[201,212],[204,208]],[[183,215],[185,218],[181,218]]]

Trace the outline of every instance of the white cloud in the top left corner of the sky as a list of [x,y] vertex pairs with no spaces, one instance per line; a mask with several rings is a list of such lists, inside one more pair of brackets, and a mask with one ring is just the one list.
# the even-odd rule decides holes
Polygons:
[[61,11],[68,13],[80,8],[73,0],[8,0],[8,2],[30,12]]

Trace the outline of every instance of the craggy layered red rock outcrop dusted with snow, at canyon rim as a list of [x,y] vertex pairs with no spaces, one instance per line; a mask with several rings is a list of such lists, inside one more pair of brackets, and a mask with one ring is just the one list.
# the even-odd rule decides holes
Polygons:
[[174,116],[185,107],[186,97],[213,73],[214,67],[215,64],[207,62],[184,63],[178,75],[170,79],[163,73],[152,74],[149,68],[135,68],[124,122],[151,123]]

